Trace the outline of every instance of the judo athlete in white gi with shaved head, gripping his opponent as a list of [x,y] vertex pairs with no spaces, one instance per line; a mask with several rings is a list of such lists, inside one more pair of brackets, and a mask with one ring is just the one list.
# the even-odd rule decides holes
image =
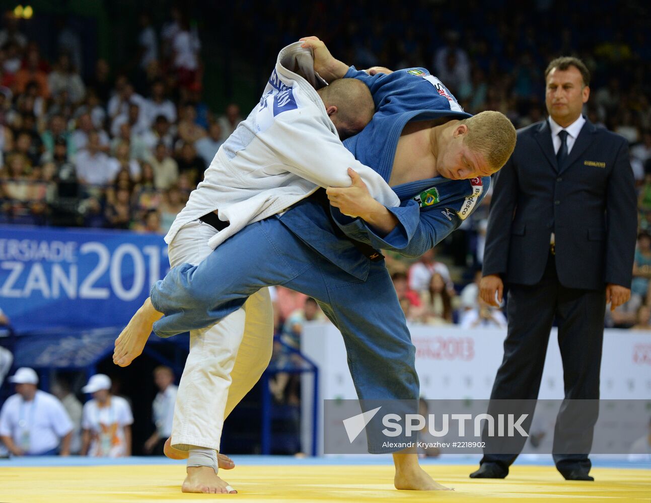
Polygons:
[[[348,167],[360,174],[383,204],[400,204],[381,176],[356,161],[339,138],[361,131],[371,120],[374,103],[368,88],[355,79],[326,87],[314,73],[311,51],[300,45],[281,51],[260,103],[238,126],[238,135],[217,152],[204,181],[176,217],[165,236],[172,266],[199,264],[246,224],[292,206],[318,187],[350,185]],[[266,288],[216,325],[191,331],[174,409],[171,439],[175,448],[201,454],[201,446],[214,457],[223,420],[268,366],[272,341],[272,308]],[[240,351],[236,361],[240,346],[255,351]],[[210,400],[204,400],[206,392]],[[213,463],[215,469],[217,463],[232,467],[223,456],[219,461],[192,458],[184,491],[197,491],[191,480],[195,467],[206,463]]]

